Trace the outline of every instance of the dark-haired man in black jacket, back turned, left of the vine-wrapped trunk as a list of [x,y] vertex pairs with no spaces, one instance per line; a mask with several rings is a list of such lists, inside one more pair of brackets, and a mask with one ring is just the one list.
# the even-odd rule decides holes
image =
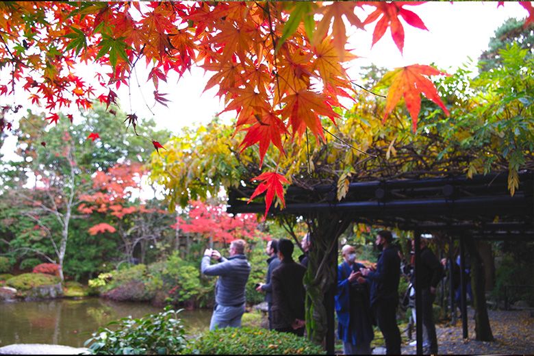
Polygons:
[[272,272],[272,328],[276,331],[304,335],[303,278],[306,268],[293,261],[293,242],[280,239],[280,266]]

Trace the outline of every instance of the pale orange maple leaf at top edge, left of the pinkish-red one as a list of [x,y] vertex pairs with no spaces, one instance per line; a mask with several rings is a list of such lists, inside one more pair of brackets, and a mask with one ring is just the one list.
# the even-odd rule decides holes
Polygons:
[[321,8],[323,16],[317,25],[314,34],[313,44],[319,44],[325,39],[328,34],[330,24],[332,24],[333,46],[339,55],[339,59],[343,62],[345,55],[346,44],[346,29],[342,16],[346,16],[348,22],[360,29],[364,29],[364,23],[360,21],[358,16],[354,14],[355,6],[361,6],[353,1],[334,1],[331,5],[326,5]]

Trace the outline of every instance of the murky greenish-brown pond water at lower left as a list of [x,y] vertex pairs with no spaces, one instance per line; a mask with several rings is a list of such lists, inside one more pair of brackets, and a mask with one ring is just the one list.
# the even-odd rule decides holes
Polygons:
[[[100,298],[0,303],[0,346],[9,344],[60,344],[81,347],[91,333],[112,320],[140,318],[162,308],[143,303],[118,303]],[[212,310],[183,310],[189,333],[209,327]]]

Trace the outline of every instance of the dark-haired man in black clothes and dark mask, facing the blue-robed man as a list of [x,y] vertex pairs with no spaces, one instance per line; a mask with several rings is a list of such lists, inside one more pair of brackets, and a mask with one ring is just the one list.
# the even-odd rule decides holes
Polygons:
[[390,231],[377,234],[379,259],[376,270],[360,268],[361,275],[371,283],[371,308],[378,327],[384,336],[387,355],[401,354],[401,332],[398,330],[396,309],[398,305],[398,281],[401,279],[401,258]]

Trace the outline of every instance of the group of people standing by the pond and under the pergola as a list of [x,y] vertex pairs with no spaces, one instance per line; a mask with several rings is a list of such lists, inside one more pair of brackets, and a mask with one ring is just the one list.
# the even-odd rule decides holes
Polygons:
[[[266,246],[267,274],[265,283],[256,290],[265,293],[268,303],[269,329],[305,333],[305,288],[303,278],[307,269],[309,235],[301,241],[304,254],[294,261],[294,244],[291,240],[270,240]],[[374,268],[356,261],[353,246],[342,247],[343,262],[338,266],[335,311],[338,315],[338,337],[343,342],[345,355],[369,355],[374,338],[373,325],[377,325],[385,341],[388,355],[401,354],[401,332],[398,329],[398,284],[401,278],[401,253],[393,244],[390,231],[377,233],[375,241],[380,254]],[[234,240],[229,257],[206,249],[201,262],[205,275],[218,276],[216,305],[209,329],[240,327],[245,312],[245,285],[251,265],[244,255],[246,242]],[[412,248],[413,248],[412,243]],[[443,277],[443,267],[434,253],[421,239],[420,285],[422,287],[422,324],[424,353],[437,353],[437,338],[432,313],[437,283]],[[212,264],[212,260],[218,262]],[[411,274],[413,278],[413,273]],[[414,281],[411,281],[414,283]]]

